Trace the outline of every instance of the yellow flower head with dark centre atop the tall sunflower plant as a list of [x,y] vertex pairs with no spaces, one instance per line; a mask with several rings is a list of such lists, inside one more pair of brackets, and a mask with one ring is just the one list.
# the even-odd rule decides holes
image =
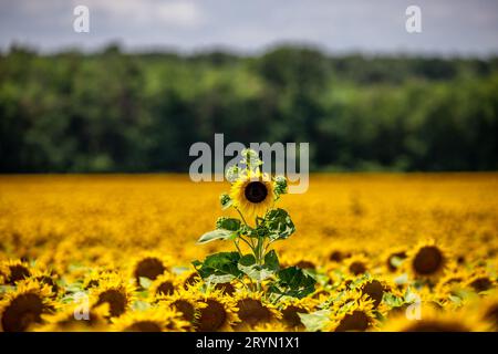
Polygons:
[[274,201],[273,183],[266,174],[249,171],[234,183],[230,198],[242,215],[249,218],[263,216]]

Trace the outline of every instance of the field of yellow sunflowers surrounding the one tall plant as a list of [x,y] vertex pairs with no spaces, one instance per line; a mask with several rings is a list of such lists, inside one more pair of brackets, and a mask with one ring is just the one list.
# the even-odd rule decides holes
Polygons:
[[496,331],[498,175],[313,175],[280,201],[303,298],[206,284],[228,184],[0,176],[2,331]]

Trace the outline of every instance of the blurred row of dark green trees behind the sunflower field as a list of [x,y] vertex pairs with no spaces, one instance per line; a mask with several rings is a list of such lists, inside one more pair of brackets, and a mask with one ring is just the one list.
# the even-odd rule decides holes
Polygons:
[[309,142],[314,170],[496,170],[498,59],[0,56],[0,169],[186,171],[189,146]]

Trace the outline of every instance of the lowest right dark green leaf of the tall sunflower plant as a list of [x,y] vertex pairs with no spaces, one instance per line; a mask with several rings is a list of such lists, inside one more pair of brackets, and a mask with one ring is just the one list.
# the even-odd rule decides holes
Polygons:
[[298,267],[289,267],[277,272],[278,280],[269,287],[270,292],[302,299],[314,292],[317,281]]

